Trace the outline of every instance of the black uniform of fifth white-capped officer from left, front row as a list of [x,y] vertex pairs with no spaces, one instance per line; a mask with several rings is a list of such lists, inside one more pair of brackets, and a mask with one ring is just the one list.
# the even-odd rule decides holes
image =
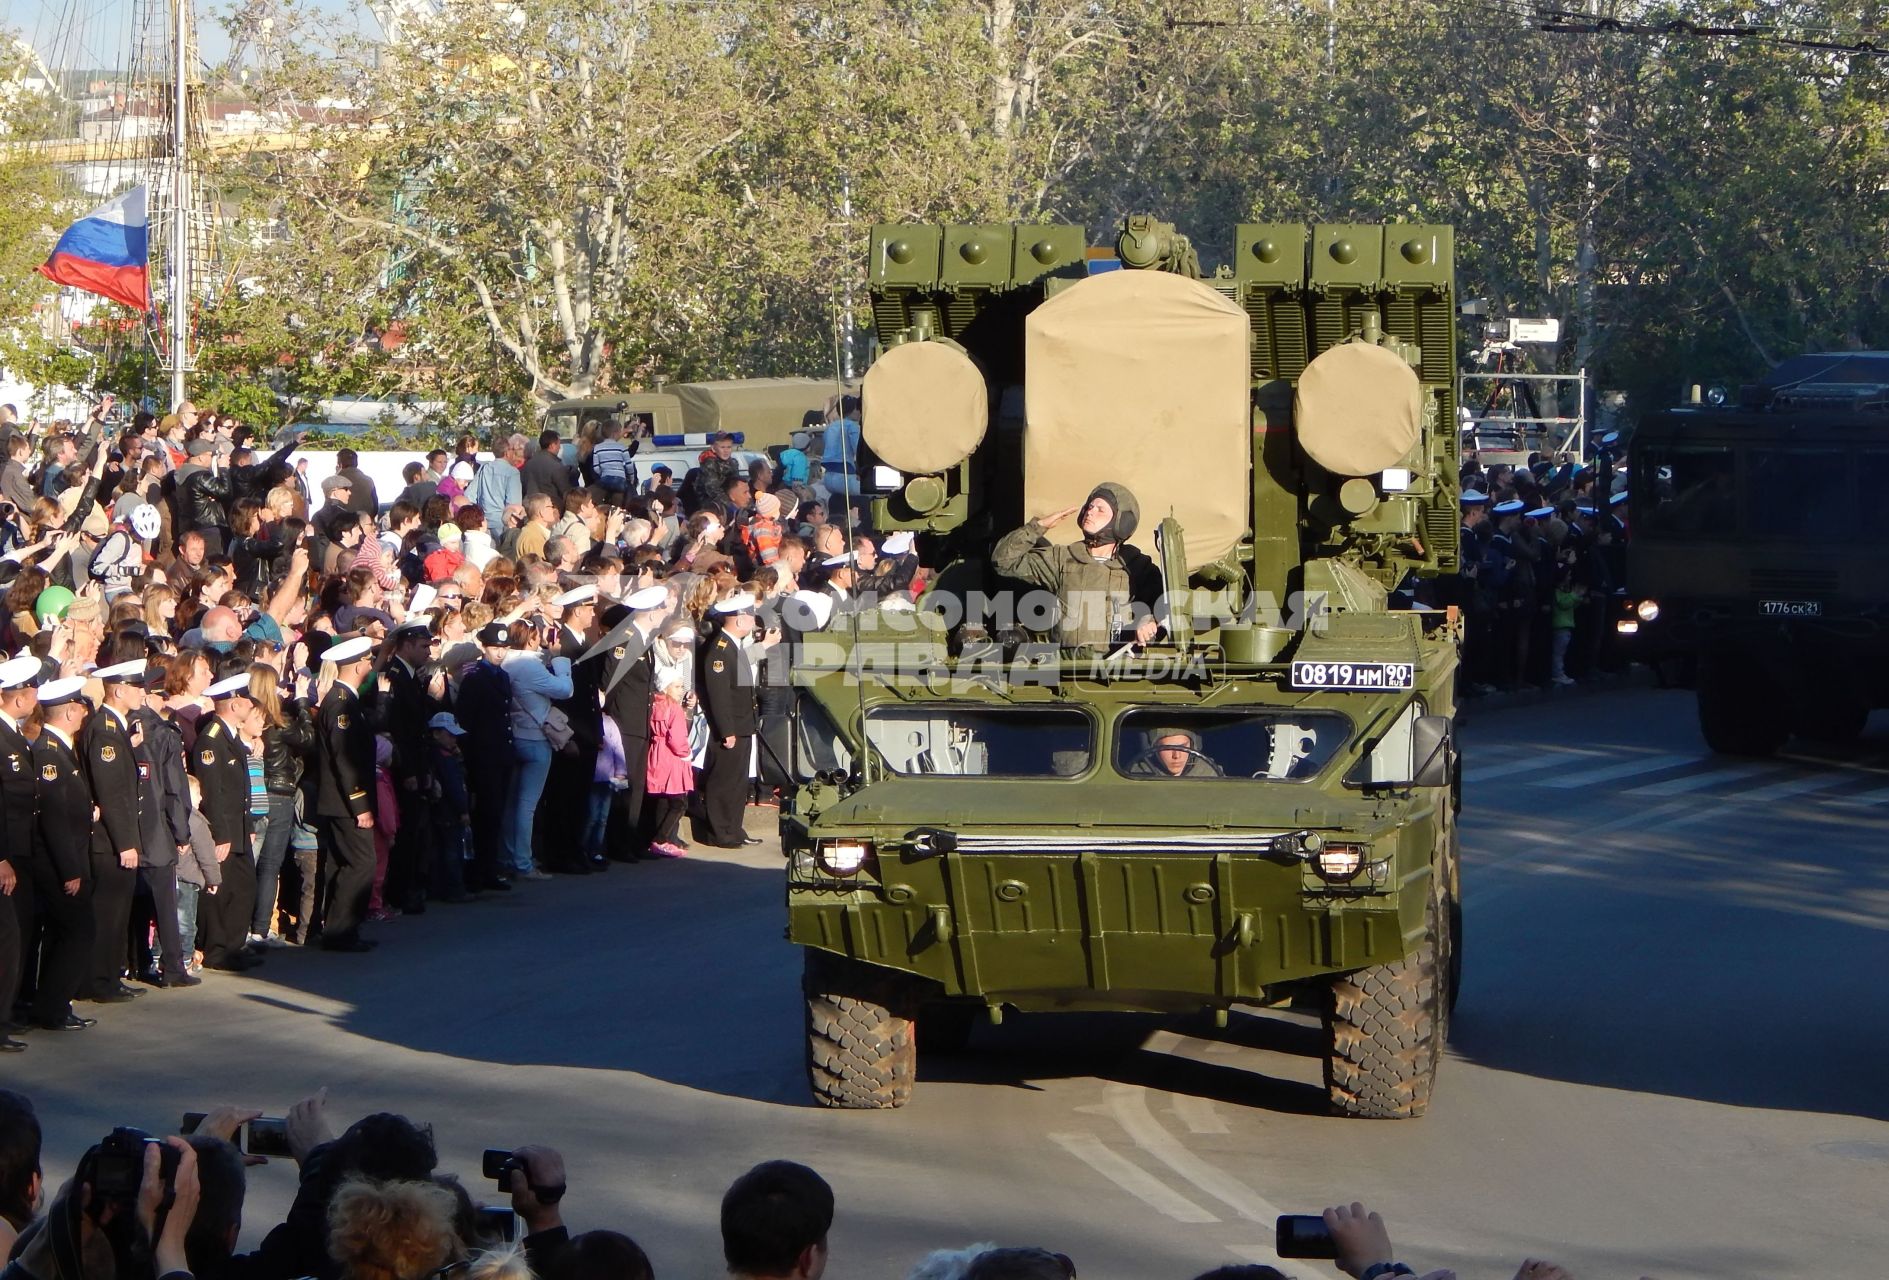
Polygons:
[[374,831],[357,821],[374,812],[374,727],[365,712],[353,687],[334,682],[317,716],[315,814],[329,842],[323,946],[359,940],[374,889]]

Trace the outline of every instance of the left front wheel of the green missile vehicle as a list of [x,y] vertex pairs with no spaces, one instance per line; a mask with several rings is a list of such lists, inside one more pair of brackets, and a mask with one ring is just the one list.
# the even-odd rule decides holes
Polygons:
[[807,1084],[822,1106],[905,1106],[918,1074],[909,984],[899,974],[807,950]]

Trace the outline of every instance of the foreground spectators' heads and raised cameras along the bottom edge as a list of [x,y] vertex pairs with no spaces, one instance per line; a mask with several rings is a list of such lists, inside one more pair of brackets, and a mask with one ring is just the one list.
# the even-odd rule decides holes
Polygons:
[[[189,1133],[113,1129],[57,1189],[40,1161],[32,1103],[0,1089],[0,1280],[654,1280],[648,1254],[621,1231],[572,1233],[563,1155],[548,1146],[485,1154],[499,1204],[440,1169],[433,1131],[404,1116],[366,1116],[340,1135],[325,1095],[280,1121],[297,1169],[287,1216],[244,1220],[255,1110],[217,1106]],[[281,1152],[278,1150],[278,1155]],[[771,1159],[722,1197],[722,1267],[737,1280],[818,1280],[839,1214],[833,1187],[807,1165]],[[1398,1259],[1385,1220],[1364,1204],[1324,1210],[1332,1265],[1353,1280],[1419,1272]],[[253,1248],[244,1248],[253,1240]],[[693,1271],[693,1269],[691,1269]],[[856,1269],[854,1269],[856,1271]],[[920,1257],[909,1280],[1075,1280],[1067,1254],[971,1244]],[[1179,1269],[1173,1274],[1184,1274]],[[1526,1261],[1517,1280],[1570,1280]],[[1198,1280],[1286,1280],[1266,1265],[1217,1267]],[[1430,1271],[1422,1280],[1455,1280]]]

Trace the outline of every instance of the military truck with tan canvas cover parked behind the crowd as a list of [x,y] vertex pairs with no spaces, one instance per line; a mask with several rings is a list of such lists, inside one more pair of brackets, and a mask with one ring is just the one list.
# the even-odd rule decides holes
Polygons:
[[652,436],[684,436],[712,430],[740,432],[750,449],[786,444],[808,410],[824,410],[831,381],[814,378],[735,378],[684,381],[655,391],[557,400],[544,410],[544,429],[574,440],[591,417],[629,423],[642,419]]

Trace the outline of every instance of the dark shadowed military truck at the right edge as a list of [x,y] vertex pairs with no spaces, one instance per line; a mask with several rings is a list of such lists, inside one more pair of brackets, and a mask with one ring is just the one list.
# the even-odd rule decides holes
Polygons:
[[1889,563],[1866,523],[1889,474],[1889,353],[1800,355],[1713,398],[1634,430],[1623,625],[1694,657],[1713,751],[1855,738],[1889,706]]

